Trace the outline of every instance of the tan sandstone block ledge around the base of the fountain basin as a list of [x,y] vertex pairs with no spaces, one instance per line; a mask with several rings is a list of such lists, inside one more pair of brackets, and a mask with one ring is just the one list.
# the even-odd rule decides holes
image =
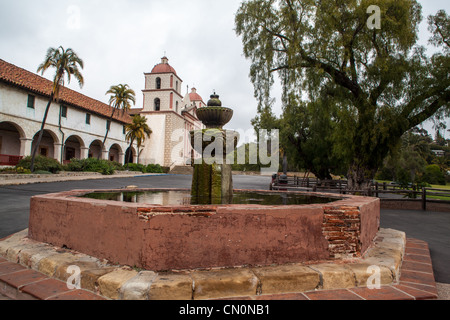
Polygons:
[[[76,266],[81,275],[81,289],[112,300],[269,299],[302,292],[313,293],[313,296],[333,290],[348,293],[348,290],[366,288],[368,284],[376,285],[377,282],[371,280],[375,279],[374,275],[379,276],[376,279],[379,279],[380,289],[391,288],[399,285],[406,248],[404,232],[381,229],[371,248],[359,259],[156,273],[112,265],[85,254],[32,241],[27,235],[28,230],[24,230],[1,240],[0,257],[63,283],[74,275],[74,269],[69,267]],[[413,276],[410,281],[414,284]],[[345,299],[345,295],[342,297]]]

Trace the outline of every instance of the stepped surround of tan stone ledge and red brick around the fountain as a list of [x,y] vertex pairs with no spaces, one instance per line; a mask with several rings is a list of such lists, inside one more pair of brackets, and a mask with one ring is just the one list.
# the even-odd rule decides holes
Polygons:
[[[3,257],[3,258],[1,258]],[[78,267],[81,289],[67,282]],[[367,288],[378,267],[379,289]],[[68,273],[72,271],[72,273]],[[370,269],[370,272],[373,272]],[[0,293],[40,300],[414,300],[436,299],[428,245],[403,232],[380,230],[361,259],[345,263],[184,270],[167,273],[107,261],[27,238],[0,240]]]

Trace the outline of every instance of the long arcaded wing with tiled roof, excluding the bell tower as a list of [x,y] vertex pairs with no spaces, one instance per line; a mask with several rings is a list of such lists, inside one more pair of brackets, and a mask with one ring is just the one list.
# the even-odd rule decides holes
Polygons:
[[[15,165],[31,155],[52,86],[51,81],[0,60],[0,165]],[[109,105],[61,88],[59,100],[50,107],[38,154],[61,163],[89,157],[124,163],[128,151],[136,161],[136,149],[128,150],[125,139],[129,115],[116,112],[109,122],[111,113]]]

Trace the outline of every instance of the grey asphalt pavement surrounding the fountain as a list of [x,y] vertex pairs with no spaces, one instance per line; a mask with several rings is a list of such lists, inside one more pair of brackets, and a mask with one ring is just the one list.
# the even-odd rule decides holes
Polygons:
[[[0,239],[28,228],[30,197],[75,189],[190,188],[190,175],[163,175],[66,181],[0,187]],[[270,177],[233,176],[236,189],[268,190]],[[428,242],[437,282],[450,284],[450,213],[382,210],[381,227]]]

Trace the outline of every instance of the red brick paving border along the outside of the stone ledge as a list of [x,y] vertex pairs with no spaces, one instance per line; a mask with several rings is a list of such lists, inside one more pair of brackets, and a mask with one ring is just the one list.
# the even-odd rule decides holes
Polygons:
[[[0,300],[104,300],[86,290],[70,290],[65,282],[0,258]],[[437,299],[428,244],[408,239],[398,284],[381,289],[349,288],[227,300],[424,300]]]

